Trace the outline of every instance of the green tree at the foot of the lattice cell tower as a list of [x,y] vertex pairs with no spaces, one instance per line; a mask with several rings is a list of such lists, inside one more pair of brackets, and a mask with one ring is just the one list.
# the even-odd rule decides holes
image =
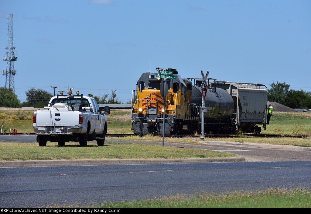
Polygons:
[[0,107],[21,107],[20,100],[17,98],[12,88],[0,88]]

